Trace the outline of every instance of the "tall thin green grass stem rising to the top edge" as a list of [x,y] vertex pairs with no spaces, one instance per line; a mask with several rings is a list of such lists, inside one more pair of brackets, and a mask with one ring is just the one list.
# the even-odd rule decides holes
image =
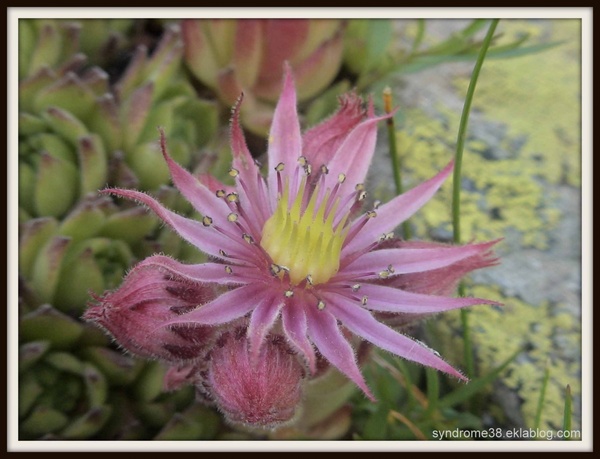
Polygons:
[[[477,56],[475,67],[473,68],[473,74],[471,75],[471,81],[467,88],[467,95],[465,96],[465,105],[463,106],[462,115],[460,117],[460,125],[458,128],[458,139],[456,141],[456,156],[454,163],[454,176],[453,176],[453,191],[452,191],[452,227],[454,231],[454,242],[460,243],[460,185],[461,185],[461,172],[462,172],[462,157],[463,150],[465,147],[465,139],[467,135],[467,125],[469,124],[469,114],[471,112],[471,103],[473,102],[473,94],[475,93],[475,86],[477,85],[477,79],[479,78],[479,72],[485,60],[485,55],[492,42],[494,32],[498,26],[499,19],[494,19],[490,23],[490,27],[487,31],[485,39],[481,45],[481,50]],[[461,283],[458,287],[458,293],[460,296],[464,296],[464,285]],[[473,348],[469,333],[469,318],[466,310],[461,310],[461,324],[463,327],[463,338],[465,343],[465,366],[467,376],[474,374],[473,364]]]

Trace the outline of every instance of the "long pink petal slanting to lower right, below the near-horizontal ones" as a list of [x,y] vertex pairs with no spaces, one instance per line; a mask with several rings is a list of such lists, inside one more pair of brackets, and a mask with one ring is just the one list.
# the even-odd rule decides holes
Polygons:
[[369,311],[356,304],[341,304],[339,296],[331,298],[332,314],[342,321],[344,326],[354,334],[366,339],[382,349],[390,351],[407,360],[443,371],[459,379],[466,378],[438,357],[434,351],[407,336],[395,332],[391,328],[375,320]]

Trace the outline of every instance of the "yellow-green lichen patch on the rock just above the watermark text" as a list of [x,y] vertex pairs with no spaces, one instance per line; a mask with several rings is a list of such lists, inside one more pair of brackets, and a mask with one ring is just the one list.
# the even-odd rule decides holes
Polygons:
[[[521,413],[528,427],[534,427],[540,389],[546,366],[550,380],[541,416],[542,429],[559,429],[564,409],[567,384],[573,394],[581,391],[579,364],[568,363],[563,349],[556,345],[557,335],[567,338],[569,345],[579,346],[580,324],[569,314],[554,314],[549,303],[527,304],[515,297],[505,297],[494,286],[473,286],[470,294],[494,298],[502,308],[476,307],[469,312],[470,333],[477,352],[477,372],[486,374],[508,359],[516,350],[523,352],[501,375],[504,385],[522,399]],[[444,314],[435,329],[447,349],[444,355],[453,362],[462,361],[463,341],[458,312]],[[453,352],[449,352],[453,350]],[[455,359],[455,360],[454,360]]]

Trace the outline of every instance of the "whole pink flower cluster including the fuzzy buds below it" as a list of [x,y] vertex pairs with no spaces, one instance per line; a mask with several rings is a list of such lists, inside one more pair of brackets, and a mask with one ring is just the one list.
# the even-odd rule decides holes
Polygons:
[[[291,395],[296,383],[310,380],[323,365],[339,370],[374,400],[353,347],[361,341],[465,380],[437,352],[384,323],[387,316],[420,318],[496,304],[452,297],[447,291],[466,272],[494,262],[491,248],[496,241],[464,246],[404,244],[393,233],[440,188],[452,162],[428,181],[364,211],[364,180],[375,151],[377,123],[390,115],[375,116],[371,103],[365,108],[360,98],[350,94],[342,98],[335,115],[302,134],[287,66],[269,133],[268,175],[263,178],[241,131],[241,103],[231,121],[233,186],[215,178],[198,179],[186,171],[170,157],[161,135],[173,182],[199,212],[199,221],[172,212],[139,191],[102,191],[150,208],[211,261],[194,265],[151,257],[133,268],[120,289],[98,298],[86,318],[98,322],[127,348],[131,334],[116,330],[116,322],[123,320],[117,311],[136,310],[144,339],[135,346],[142,354],[156,346],[170,346],[172,339],[182,337],[181,330],[190,332],[185,339],[192,343],[193,330],[215,327],[221,337],[228,336],[217,340],[216,349],[207,344],[195,355],[184,353],[167,360],[187,367],[188,381],[207,393],[230,420],[251,425],[273,427],[292,419],[295,410],[289,408],[300,400]],[[164,274],[162,278],[154,271],[144,274],[149,263]],[[453,267],[461,268],[457,276],[451,273]],[[433,294],[439,292],[428,286],[411,287],[411,282],[425,282],[427,273],[445,283],[448,288],[443,294]],[[174,279],[189,289],[174,289]],[[144,314],[136,306],[143,295],[140,300],[139,295],[124,292],[142,289],[151,280],[153,312]],[[177,302],[204,285],[215,288],[214,297],[192,301],[194,307],[182,310]],[[161,308],[162,313],[157,313]],[[278,340],[289,352],[273,344]],[[196,342],[200,341],[207,343]],[[304,371],[284,355],[293,355]],[[226,383],[224,374],[232,381]],[[289,388],[286,397],[276,396],[276,381]]]

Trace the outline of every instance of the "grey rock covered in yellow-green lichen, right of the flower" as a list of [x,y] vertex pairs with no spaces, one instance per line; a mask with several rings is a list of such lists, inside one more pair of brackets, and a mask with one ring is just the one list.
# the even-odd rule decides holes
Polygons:
[[[464,24],[428,26],[431,33],[449,34]],[[561,43],[516,59],[488,59],[475,91],[462,174],[462,237],[504,238],[497,250],[500,265],[473,274],[467,288],[470,295],[504,303],[502,309],[469,311],[476,367],[479,374],[489,372],[521,348],[492,394],[503,412],[497,422],[534,427],[548,369],[540,428],[561,428],[567,385],[574,398],[573,428],[579,428],[580,22],[502,20],[498,32],[506,40],[530,33],[536,42]],[[453,155],[472,68],[454,63],[403,77],[397,139],[406,188]],[[383,197],[393,193],[393,181],[389,162],[379,158],[372,173],[378,176],[375,194]],[[411,219],[416,234],[451,240],[450,206],[446,184]],[[446,356],[462,361],[459,314],[445,314],[436,331]]]

